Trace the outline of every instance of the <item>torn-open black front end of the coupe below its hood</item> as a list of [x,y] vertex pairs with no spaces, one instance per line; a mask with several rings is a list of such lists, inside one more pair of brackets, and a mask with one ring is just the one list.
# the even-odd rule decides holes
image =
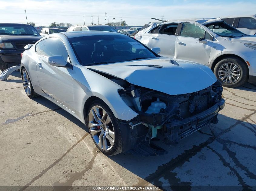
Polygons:
[[135,151],[142,143],[149,145],[152,138],[168,144],[175,143],[206,124],[217,124],[218,112],[225,105],[219,81],[197,92],[168,95],[122,80],[112,80],[121,82],[124,89],[118,90],[119,95],[138,113],[129,122],[121,121],[122,139],[126,139],[127,143],[123,145],[123,152],[130,149]]

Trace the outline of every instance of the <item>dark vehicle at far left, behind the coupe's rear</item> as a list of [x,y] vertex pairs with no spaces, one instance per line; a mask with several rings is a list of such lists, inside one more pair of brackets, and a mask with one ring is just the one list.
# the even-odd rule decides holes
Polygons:
[[0,70],[19,65],[24,46],[34,44],[41,38],[31,25],[0,23]]

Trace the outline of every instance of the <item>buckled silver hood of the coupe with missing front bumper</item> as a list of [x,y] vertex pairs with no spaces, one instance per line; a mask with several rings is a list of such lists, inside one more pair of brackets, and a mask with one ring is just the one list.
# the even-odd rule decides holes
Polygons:
[[200,91],[217,81],[211,69],[205,65],[163,57],[86,68],[169,95]]

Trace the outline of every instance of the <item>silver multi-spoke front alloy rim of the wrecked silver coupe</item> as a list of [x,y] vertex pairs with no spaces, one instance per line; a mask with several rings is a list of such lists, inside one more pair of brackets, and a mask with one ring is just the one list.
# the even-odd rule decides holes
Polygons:
[[110,116],[100,106],[91,108],[89,116],[89,128],[95,143],[104,151],[109,151],[115,142],[115,131]]

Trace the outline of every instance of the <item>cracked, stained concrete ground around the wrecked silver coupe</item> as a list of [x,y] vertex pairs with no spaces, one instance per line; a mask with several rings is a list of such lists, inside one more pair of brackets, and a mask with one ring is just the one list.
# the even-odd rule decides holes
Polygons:
[[167,154],[107,157],[78,119],[43,97],[29,99],[14,72],[0,81],[0,190],[132,185],[175,191],[254,190],[256,85],[224,88],[223,97],[226,106],[218,124],[205,126],[176,146],[159,143]]

